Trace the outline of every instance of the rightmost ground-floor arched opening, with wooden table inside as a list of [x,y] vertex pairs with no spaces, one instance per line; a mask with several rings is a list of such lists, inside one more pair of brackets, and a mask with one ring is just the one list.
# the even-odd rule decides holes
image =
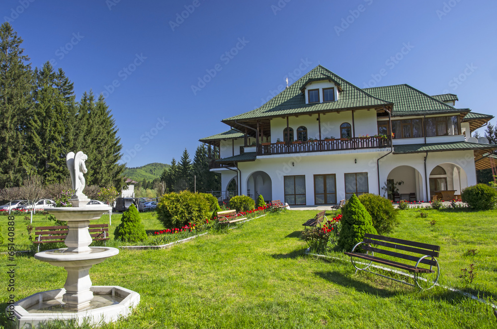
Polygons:
[[461,197],[461,191],[468,187],[466,172],[459,165],[444,163],[435,166],[429,175],[430,198],[442,200]]

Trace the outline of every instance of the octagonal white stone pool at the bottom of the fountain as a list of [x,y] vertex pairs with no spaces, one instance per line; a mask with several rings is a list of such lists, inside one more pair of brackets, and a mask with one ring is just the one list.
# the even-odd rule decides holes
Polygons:
[[65,289],[39,292],[9,305],[5,312],[13,328],[41,328],[53,321],[98,325],[127,317],[140,302],[140,294],[119,286],[92,286],[93,299],[81,311],[67,309]]

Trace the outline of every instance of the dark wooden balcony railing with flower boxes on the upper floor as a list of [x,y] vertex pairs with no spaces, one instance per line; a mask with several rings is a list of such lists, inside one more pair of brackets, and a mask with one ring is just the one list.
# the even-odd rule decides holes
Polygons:
[[341,150],[362,150],[389,148],[390,139],[376,137],[354,137],[350,139],[318,140],[308,142],[277,142],[263,143],[257,150],[258,156],[268,156],[274,154],[306,153],[306,152],[326,152]]

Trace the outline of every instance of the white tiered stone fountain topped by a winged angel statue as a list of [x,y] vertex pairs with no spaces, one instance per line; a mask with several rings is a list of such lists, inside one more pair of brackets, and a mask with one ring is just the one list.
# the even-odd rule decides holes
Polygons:
[[67,221],[67,248],[34,255],[38,260],[66,269],[64,288],[36,293],[14,303],[13,310],[7,308],[7,317],[14,316],[16,328],[40,328],[56,320],[93,325],[115,322],[128,316],[140,302],[140,295],[134,291],[119,286],[91,285],[91,266],[117,255],[119,249],[89,247],[92,242],[88,231],[90,221],[99,219],[110,207],[86,207],[89,201],[83,194],[86,159],[81,151],[76,155],[70,152],[66,157],[73,189],[76,191],[69,200],[73,207],[47,209],[58,220]]

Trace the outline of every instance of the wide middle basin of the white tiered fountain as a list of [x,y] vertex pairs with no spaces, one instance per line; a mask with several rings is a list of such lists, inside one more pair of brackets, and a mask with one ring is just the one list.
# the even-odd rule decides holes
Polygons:
[[51,249],[37,252],[34,257],[54,266],[78,267],[101,263],[119,253],[119,249],[112,247],[89,247],[87,253],[67,251],[68,248]]

